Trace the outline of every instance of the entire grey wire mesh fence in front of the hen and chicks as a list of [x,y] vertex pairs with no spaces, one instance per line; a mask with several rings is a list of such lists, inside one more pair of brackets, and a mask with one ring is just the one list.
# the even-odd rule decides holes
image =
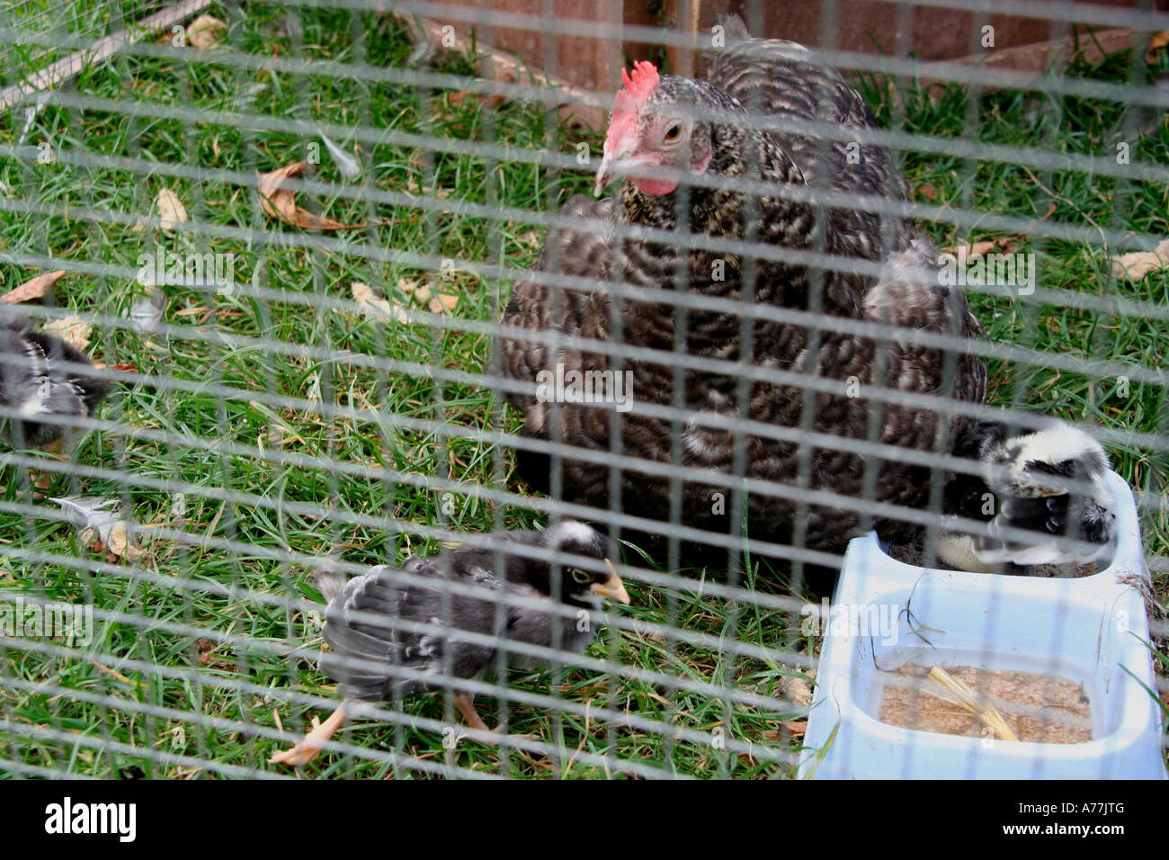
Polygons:
[[2,8],[0,772],[1163,775],[1165,11]]

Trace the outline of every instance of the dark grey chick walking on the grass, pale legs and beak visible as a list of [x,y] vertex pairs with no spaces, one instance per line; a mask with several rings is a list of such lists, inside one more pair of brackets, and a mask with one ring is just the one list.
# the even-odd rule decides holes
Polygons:
[[[338,681],[343,701],[328,720],[314,720],[313,730],[300,743],[270,762],[305,764],[345,724],[353,703],[441,689],[434,681],[442,676],[479,677],[496,666],[500,651],[512,667],[544,665],[510,651],[509,642],[581,653],[593,641],[592,613],[602,600],[629,603],[624,584],[606,558],[606,539],[583,523],[494,537],[499,539],[491,546],[413,558],[400,569],[380,565],[348,582],[336,573],[318,573],[328,599],[324,634],[332,648],[321,654],[320,668]],[[608,570],[554,565],[519,555],[509,544],[554,551],[558,558],[584,556],[603,562]],[[435,585],[419,578],[433,578]],[[468,641],[459,637],[462,631],[490,635],[493,641]],[[468,725],[487,730],[471,696],[456,692],[455,706]]]

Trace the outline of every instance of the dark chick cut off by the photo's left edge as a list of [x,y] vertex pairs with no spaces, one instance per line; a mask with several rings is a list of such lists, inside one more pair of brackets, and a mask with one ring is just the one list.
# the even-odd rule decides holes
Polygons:
[[23,319],[0,318],[0,407],[8,412],[0,417],[5,442],[50,447],[68,427],[46,424],[37,415],[91,418],[109,392],[96,372],[87,371],[91,366],[61,338],[34,331]]

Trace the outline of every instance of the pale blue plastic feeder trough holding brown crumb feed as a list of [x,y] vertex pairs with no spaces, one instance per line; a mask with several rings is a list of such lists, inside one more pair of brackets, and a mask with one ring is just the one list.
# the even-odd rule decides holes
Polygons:
[[[931,570],[894,560],[876,534],[852,541],[819,613],[800,776],[1164,779],[1136,508],[1115,473],[1108,487],[1116,545],[1088,577]],[[1021,739],[926,679],[935,666]]]

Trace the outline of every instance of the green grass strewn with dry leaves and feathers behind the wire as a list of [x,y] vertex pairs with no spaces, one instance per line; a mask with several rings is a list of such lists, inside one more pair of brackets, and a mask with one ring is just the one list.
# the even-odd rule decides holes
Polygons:
[[[226,18],[222,9],[215,14]],[[244,18],[229,19],[231,49],[390,68],[401,67],[411,50],[404,32],[392,19],[357,15],[351,20],[344,12],[303,11],[299,20],[303,32],[296,33],[282,9],[250,5]],[[358,43],[351,39],[354,30],[364,34]],[[434,487],[436,476],[466,488],[513,486],[509,482],[510,453],[466,438],[476,431],[518,427],[516,415],[504,414],[489,391],[426,373],[387,371],[376,362],[360,360],[385,357],[477,372],[489,367],[486,336],[386,324],[352,309],[321,309],[314,301],[320,296],[346,300],[352,282],[361,281],[388,298],[406,302],[408,296],[399,287],[402,278],[421,281],[429,274],[401,259],[378,259],[376,253],[371,259],[364,252],[396,249],[434,259],[524,267],[535,256],[539,232],[521,221],[462,218],[441,211],[428,214],[408,205],[361,199],[360,194],[328,199],[302,192],[298,199],[304,206],[338,221],[387,223],[331,236],[344,243],[337,250],[249,241],[249,232],[278,227],[260,212],[254,190],[215,177],[203,181],[173,178],[166,167],[200,166],[253,176],[306,157],[310,139],[298,133],[249,131],[219,116],[236,111],[456,142],[494,142],[516,151],[551,147],[568,154],[575,153],[581,139],[577,132],[556,128],[539,105],[527,103],[487,106],[473,98],[451,99],[441,90],[237,69],[208,59],[193,55],[187,62],[120,55],[75,81],[76,92],[84,97],[187,108],[205,112],[206,119],[192,123],[133,117],[118,109],[50,106],[22,145],[53,142],[61,150],[58,163],[0,160],[0,194],[8,202],[37,207],[34,215],[0,207],[0,250],[5,254],[133,269],[138,255],[152,253],[155,243],[168,250],[231,252],[237,281],[256,288],[253,295],[165,288],[164,322],[181,326],[181,331],[164,337],[139,332],[123,319],[144,297],[144,289],[129,277],[77,271],[57,284],[53,296],[56,308],[106,321],[95,326],[95,358],[133,365],[150,380],[119,387],[99,413],[117,426],[91,433],[72,454],[78,474],[54,473],[47,495],[120,496],[134,521],[151,525],[158,535],[151,538],[147,532],[144,544],[148,555],[137,567],[105,566],[103,552],[79,541],[55,508],[34,497],[23,480],[26,472],[6,465],[0,496],[0,587],[8,594],[29,592],[47,600],[91,603],[116,617],[96,624],[96,640],[90,646],[90,653],[102,655],[96,663],[35,648],[6,652],[4,673],[12,683],[0,684],[0,706],[9,730],[0,731],[0,750],[2,761],[23,766],[98,777],[213,772],[201,770],[200,763],[289,772],[265,764],[284,744],[253,734],[249,727],[274,730],[277,711],[291,737],[328,704],[306,703],[303,696],[327,700],[333,689],[311,660],[290,656],[298,647],[310,654],[320,641],[311,618],[298,606],[283,603],[289,596],[318,599],[307,569],[289,560],[290,555],[331,555],[354,564],[390,563],[407,552],[424,555],[438,549],[435,541],[388,530],[386,525],[393,521],[456,532],[540,522],[520,505],[500,507],[473,493],[444,497]],[[1081,63],[1074,74],[1123,81],[1127,69],[1122,57],[1097,67]],[[470,64],[465,57],[442,57],[434,70],[465,75]],[[1112,104],[999,92],[980,101],[981,125],[967,129],[967,95],[956,88],[927,94],[901,87],[897,98],[891,98],[888,89],[870,85],[866,97],[883,122],[908,131],[1093,154],[1113,151],[1125,121],[1123,109]],[[1032,118],[1037,101],[1042,103],[1042,122]],[[13,116],[0,130],[0,145],[16,145],[22,126],[22,116]],[[584,139],[599,151],[599,135]],[[321,152],[316,179],[340,183],[324,147]],[[69,163],[79,156],[131,160],[111,166]],[[387,143],[364,144],[360,158],[365,191],[409,191],[416,197],[521,211],[542,212],[572,193],[587,193],[592,186],[584,172]],[[1169,125],[1164,121],[1133,140],[1133,160],[1169,163]],[[130,170],[130,164],[145,168]],[[935,190],[935,202],[1039,218],[1053,200],[1052,220],[1082,225],[1094,220],[1119,229],[1169,235],[1163,187],[1137,183],[1118,188],[1102,177],[1037,171],[1036,177],[1058,195],[1049,198],[1017,166],[909,154],[905,168],[914,187]],[[136,229],[133,216],[148,214],[162,188],[178,194],[195,222],[242,233]],[[1114,208],[1121,193],[1127,204]],[[87,212],[130,218],[119,223],[87,219]],[[927,227],[942,245],[982,238],[959,236],[947,225]],[[1099,247],[1029,238],[1021,250],[1040,255],[1043,287],[1165,303],[1169,275],[1161,273],[1139,284],[1116,282]],[[33,268],[0,267],[0,290],[32,274]],[[492,322],[510,284],[458,270],[454,282],[441,288],[459,297],[456,317]],[[1169,325],[987,296],[977,297],[975,307],[997,340],[1086,360],[1111,359],[1151,369],[1165,365]],[[219,335],[234,339],[223,340]],[[274,343],[304,349],[279,352],[265,348]],[[332,358],[326,360],[328,356]],[[167,379],[178,383],[170,386]],[[216,386],[237,393],[224,399],[215,392]],[[1118,397],[1115,390],[1116,380],[1087,372],[1057,373],[1002,363],[994,367],[994,397],[999,401],[1018,398],[1026,408],[1078,421],[1122,431],[1167,432],[1161,418],[1165,411],[1163,388],[1134,383],[1128,398]],[[265,393],[288,400],[270,403],[263,399]],[[312,400],[312,393],[348,414],[323,415],[303,403]],[[378,420],[379,414],[445,422],[457,435],[395,426]],[[250,452],[228,449],[224,443]],[[285,454],[319,462],[284,461]],[[1116,468],[1134,487],[1153,497],[1164,496],[1163,457],[1135,446],[1113,447],[1112,454]],[[334,469],[331,463],[353,468]],[[378,468],[399,473],[400,479],[389,481],[366,470]],[[175,498],[180,491],[181,502]],[[29,516],[30,504],[36,505],[36,516]],[[1169,556],[1165,509],[1146,511],[1143,528],[1150,556]],[[180,539],[182,535],[188,537]],[[630,552],[630,560],[636,562],[636,553]],[[766,576],[760,579],[761,592],[780,593],[767,584]],[[224,593],[224,586],[234,590]],[[1157,575],[1156,590],[1164,601],[1169,583],[1163,571]],[[793,713],[741,703],[728,707],[719,696],[675,690],[637,674],[656,672],[731,684],[758,696],[777,695],[777,684],[794,674],[795,658],[787,666],[735,658],[719,644],[781,645],[798,649],[807,660],[816,644],[801,638],[797,617],[651,585],[635,586],[632,593],[632,607],[622,613],[622,626],[631,629],[608,629],[590,652],[630,672],[622,676],[580,668],[516,673],[510,679],[512,689],[535,694],[554,690],[575,706],[628,710],[684,730],[707,732],[721,727],[726,737],[772,752],[796,749],[788,741],[773,739],[779,721],[796,716]],[[706,640],[662,640],[652,632],[638,632],[641,622],[680,626],[706,634]],[[216,648],[220,642],[223,645]],[[493,706],[486,697],[480,697],[480,704],[484,714]],[[451,718],[441,695],[416,699],[406,710],[422,720]],[[404,777],[414,772],[409,762],[417,761],[510,776],[597,777],[611,770],[604,764],[607,757],[610,763],[644,762],[685,776],[793,775],[786,763],[676,741],[667,732],[623,728],[595,717],[588,718],[586,727],[583,716],[527,704],[512,704],[510,714],[512,731],[534,732],[561,745],[562,755],[500,755],[472,742],[447,750],[434,727],[355,723],[339,737],[354,744],[357,755],[323,756],[305,773]],[[177,758],[158,763],[143,750]],[[371,755],[360,755],[362,750]],[[374,755],[386,751],[400,754],[404,764],[379,761]],[[581,755],[574,756],[576,752]],[[582,761],[588,756],[596,758]],[[0,766],[0,772],[4,770]]]

